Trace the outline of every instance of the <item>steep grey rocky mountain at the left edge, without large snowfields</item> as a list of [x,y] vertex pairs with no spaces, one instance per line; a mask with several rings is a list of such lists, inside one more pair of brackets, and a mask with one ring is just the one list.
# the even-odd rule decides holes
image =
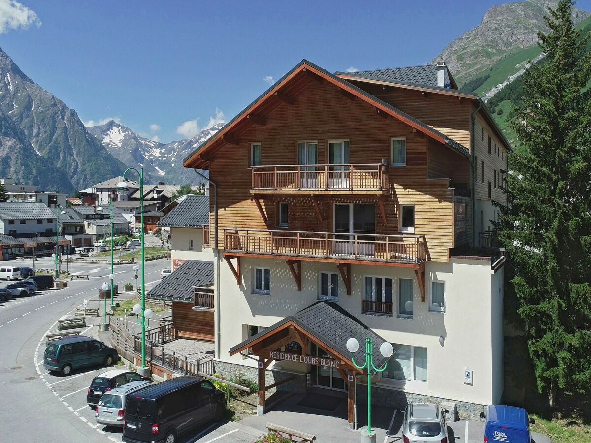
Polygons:
[[0,176],[72,193],[125,166],[0,48]]

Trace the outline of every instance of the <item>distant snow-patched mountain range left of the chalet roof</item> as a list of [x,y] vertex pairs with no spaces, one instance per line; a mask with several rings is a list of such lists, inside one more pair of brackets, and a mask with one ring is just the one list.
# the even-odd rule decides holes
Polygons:
[[151,183],[164,181],[166,184],[197,185],[203,179],[194,171],[183,168],[183,158],[222,129],[223,125],[225,123],[217,123],[193,138],[167,144],[144,138],[114,120],[87,129],[114,157],[126,165],[143,165]]

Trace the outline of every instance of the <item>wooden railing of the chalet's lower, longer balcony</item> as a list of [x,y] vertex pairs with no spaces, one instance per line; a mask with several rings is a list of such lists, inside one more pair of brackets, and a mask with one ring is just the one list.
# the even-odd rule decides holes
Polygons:
[[425,260],[425,237],[224,229],[226,252],[392,263]]

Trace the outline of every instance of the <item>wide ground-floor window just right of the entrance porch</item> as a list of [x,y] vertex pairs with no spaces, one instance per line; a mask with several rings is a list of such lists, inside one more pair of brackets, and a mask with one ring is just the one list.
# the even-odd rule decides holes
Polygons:
[[392,343],[394,354],[383,377],[404,382],[427,382],[427,348]]

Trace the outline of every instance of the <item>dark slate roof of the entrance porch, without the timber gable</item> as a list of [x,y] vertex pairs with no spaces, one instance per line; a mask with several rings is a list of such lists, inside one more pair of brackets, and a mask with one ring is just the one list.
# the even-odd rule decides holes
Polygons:
[[[374,331],[349,314],[349,312],[345,311],[339,304],[328,301],[317,301],[309,307],[296,312],[296,314],[285,317],[283,320],[278,321],[278,323],[253,335],[248,340],[230,348],[229,352],[232,353],[245,346],[245,344],[255,341],[261,335],[268,333],[269,330],[278,328],[288,321],[293,321],[303,330],[307,331],[307,333],[313,335],[313,337],[317,337],[320,341],[326,343],[330,348],[343,356],[350,355],[347,350],[347,340],[350,337],[355,337],[359,341],[359,350],[354,355],[357,364],[363,364],[365,362],[365,338],[372,337],[374,343],[374,364],[378,368],[384,366],[384,357],[379,352],[379,347],[386,340],[374,333]],[[327,351],[330,352],[328,349]]]

